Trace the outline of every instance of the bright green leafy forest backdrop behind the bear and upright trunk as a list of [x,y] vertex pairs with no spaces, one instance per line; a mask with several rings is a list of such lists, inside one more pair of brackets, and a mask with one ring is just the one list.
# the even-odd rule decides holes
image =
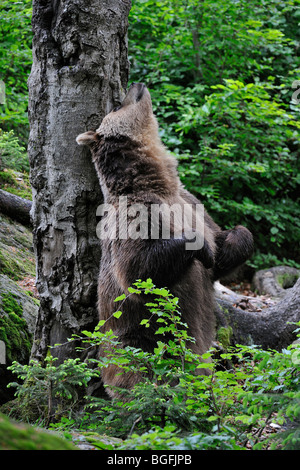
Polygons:
[[[300,103],[293,84],[300,79],[300,0],[132,4],[130,81],[149,86],[183,182],[222,227],[240,223],[253,232],[250,265],[299,267]],[[13,130],[21,146],[28,138],[30,19],[31,1],[1,2],[0,127]]]

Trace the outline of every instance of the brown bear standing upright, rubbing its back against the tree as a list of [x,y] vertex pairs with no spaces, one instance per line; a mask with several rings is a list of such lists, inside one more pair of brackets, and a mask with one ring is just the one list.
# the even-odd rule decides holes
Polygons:
[[[207,212],[198,210],[202,205],[181,184],[176,159],[161,142],[144,84],[133,83],[96,132],[76,140],[89,145],[104,195],[98,284],[100,319],[109,319],[104,329],[112,329],[124,347],[153,351],[157,325],[141,326],[149,313],[140,296],[129,296],[122,316],[112,316],[116,297],[137,279],[151,278],[179,298],[182,319],[196,340],[191,348],[203,354],[214,337],[213,282],[249,257],[252,235],[242,226],[222,231]],[[153,214],[158,214],[154,221]],[[167,236],[162,235],[165,229]],[[102,376],[104,384],[122,388],[141,379],[116,374],[114,366]]]

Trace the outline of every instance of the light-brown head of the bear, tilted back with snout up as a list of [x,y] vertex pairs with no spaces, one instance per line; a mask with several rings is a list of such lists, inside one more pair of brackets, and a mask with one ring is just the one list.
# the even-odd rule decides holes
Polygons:
[[94,132],[80,134],[76,141],[88,145],[101,137],[128,137],[142,145],[160,143],[151,96],[143,83],[132,83],[120,106],[114,108]]

